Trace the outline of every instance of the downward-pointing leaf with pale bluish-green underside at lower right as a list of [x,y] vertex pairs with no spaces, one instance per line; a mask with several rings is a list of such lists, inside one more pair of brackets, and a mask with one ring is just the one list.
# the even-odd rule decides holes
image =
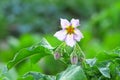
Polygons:
[[101,72],[101,74],[104,77],[110,78],[110,69],[109,69],[110,64],[111,64],[110,61],[104,61],[97,65],[98,70]]

